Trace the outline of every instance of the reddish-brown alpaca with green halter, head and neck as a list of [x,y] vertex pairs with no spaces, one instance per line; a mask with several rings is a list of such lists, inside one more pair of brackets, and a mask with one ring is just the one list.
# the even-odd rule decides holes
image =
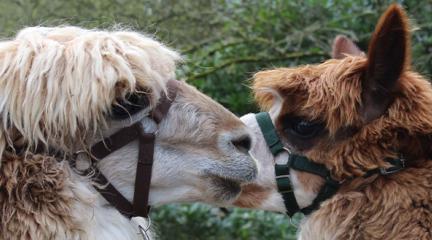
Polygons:
[[[274,122],[285,146],[342,183],[305,218],[300,239],[432,239],[432,88],[411,69],[409,39],[408,18],[392,5],[367,56],[255,75],[258,103],[281,105]],[[364,176],[399,156],[401,171]],[[320,189],[320,177],[294,172],[307,191]]]

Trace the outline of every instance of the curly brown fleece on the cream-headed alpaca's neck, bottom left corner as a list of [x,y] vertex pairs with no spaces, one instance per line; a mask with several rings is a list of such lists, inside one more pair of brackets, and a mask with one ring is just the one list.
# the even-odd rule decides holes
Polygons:
[[78,230],[67,174],[56,159],[6,156],[0,169],[0,239],[56,239],[55,229]]

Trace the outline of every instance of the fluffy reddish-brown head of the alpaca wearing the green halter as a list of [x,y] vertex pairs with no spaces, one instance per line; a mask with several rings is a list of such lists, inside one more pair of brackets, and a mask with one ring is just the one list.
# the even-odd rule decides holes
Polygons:
[[[255,75],[256,100],[270,110],[284,145],[324,164],[341,181],[388,167],[386,158],[403,155],[412,164],[424,160],[430,153],[432,91],[411,71],[404,10],[392,5],[383,14],[367,55],[343,42],[334,46],[345,57],[334,54],[338,59]],[[290,173],[294,191],[307,196],[297,199],[300,207],[307,206],[323,179]]]

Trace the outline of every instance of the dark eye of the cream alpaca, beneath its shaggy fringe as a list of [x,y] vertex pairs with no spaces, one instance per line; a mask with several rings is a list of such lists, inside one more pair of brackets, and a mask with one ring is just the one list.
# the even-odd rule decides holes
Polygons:
[[138,113],[149,105],[149,100],[144,93],[128,93],[124,99],[117,100],[112,106],[114,119],[125,119]]

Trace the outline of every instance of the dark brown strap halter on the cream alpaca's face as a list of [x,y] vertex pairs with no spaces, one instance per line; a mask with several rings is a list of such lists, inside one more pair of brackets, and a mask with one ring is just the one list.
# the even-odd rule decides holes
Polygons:
[[[167,115],[171,107],[171,103],[176,97],[178,84],[179,83],[177,80],[168,81],[168,96],[163,93],[159,104],[151,112],[150,117],[157,124],[159,124]],[[91,179],[97,183],[95,189],[120,213],[127,216],[128,218],[136,216],[144,218],[148,217],[148,198],[150,193],[155,138],[155,132],[144,132],[141,123],[137,122],[94,144],[90,149],[89,157],[91,158],[93,168],[90,168],[89,170],[93,171]],[[128,143],[137,139],[139,143],[138,162],[136,167],[133,202],[130,203],[106,179],[106,177],[99,171],[96,165],[97,161],[105,158],[109,154],[119,150]]]

